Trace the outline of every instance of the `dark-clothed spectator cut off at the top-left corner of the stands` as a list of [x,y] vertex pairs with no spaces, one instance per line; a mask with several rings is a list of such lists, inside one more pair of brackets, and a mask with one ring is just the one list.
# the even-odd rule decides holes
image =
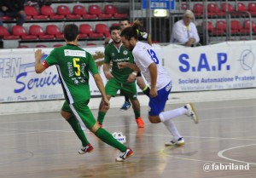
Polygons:
[[25,0],[0,0],[0,26],[3,26],[1,17],[4,15],[16,18],[17,25],[22,26],[26,20],[24,3]]

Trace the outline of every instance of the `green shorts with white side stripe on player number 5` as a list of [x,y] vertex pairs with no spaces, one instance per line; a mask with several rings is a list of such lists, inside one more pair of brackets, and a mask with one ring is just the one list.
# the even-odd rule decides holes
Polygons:
[[80,125],[85,125],[87,129],[91,129],[95,125],[96,119],[92,115],[88,103],[89,100],[83,100],[68,105],[67,101],[65,101],[61,110],[64,112],[73,113],[78,119]]

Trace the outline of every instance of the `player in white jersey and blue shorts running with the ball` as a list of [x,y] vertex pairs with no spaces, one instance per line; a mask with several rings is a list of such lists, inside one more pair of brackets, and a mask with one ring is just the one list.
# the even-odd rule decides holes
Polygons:
[[143,73],[144,78],[150,85],[149,95],[149,111],[148,119],[151,123],[164,123],[166,128],[173,135],[172,141],[166,142],[166,146],[180,146],[184,144],[183,137],[178,133],[177,128],[172,123],[172,118],[177,118],[183,114],[192,118],[195,123],[198,123],[198,118],[195,113],[194,106],[189,103],[183,107],[163,112],[166,106],[166,100],[171,93],[172,80],[166,69],[161,66],[154,49],[148,45],[138,41],[137,29],[134,26],[125,28],[121,32],[122,43],[127,48],[132,50],[134,61],[136,64],[120,62],[119,67],[130,67],[135,71]]

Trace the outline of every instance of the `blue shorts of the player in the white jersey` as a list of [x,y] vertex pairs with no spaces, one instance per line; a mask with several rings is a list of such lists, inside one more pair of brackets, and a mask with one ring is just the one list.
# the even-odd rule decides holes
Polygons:
[[172,90],[172,82],[168,83],[166,87],[157,91],[157,96],[154,98],[149,97],[149,116],[158,116],[160,112],[165,109],[166,100],[168,100],[168,95],[171,93]]

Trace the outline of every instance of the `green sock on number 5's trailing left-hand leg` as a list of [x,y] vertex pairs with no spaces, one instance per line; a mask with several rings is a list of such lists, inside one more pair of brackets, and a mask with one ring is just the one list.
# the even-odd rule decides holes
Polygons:
[[81,129],[81,126],[77,118],[73,115],[73,117],[69,118],[67,122],[71,125],[76,135],[78,135],[80,141],[82,141],[82,145],[87,146],[89,144],[89,141],[86,139],[86,136],[84,135],[84,130]]

